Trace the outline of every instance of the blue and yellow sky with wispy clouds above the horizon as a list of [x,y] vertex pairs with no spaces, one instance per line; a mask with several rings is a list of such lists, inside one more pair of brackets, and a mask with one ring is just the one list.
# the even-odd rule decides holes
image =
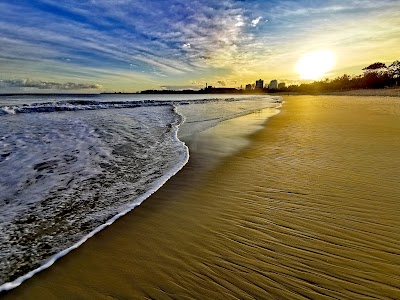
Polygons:
[[0,0],[0,93],[300,83],[400,60],[400,0]]

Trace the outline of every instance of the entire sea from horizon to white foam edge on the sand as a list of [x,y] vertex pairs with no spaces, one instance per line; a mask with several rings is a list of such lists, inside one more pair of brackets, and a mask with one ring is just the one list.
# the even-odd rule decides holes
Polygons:
[[139,205],[188,161],[180,140],[270,96],[0,97],[0,291]]

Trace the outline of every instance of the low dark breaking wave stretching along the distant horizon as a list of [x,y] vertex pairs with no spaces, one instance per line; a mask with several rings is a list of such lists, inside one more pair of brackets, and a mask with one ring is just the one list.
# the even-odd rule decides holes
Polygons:
[[[79,111],[79,110],[98,110],[113,108],[135,108],[146,106],[165,106],[165,105],[188,105],[203,104],[209,102],[233,102],[243,101],[249,98],[214,98],[214,99],[191,99],[191,100],[134,100],[134,101],[92,101],[92,100],[66,100],[55,102],[38,102],[32,104],[3,105],[0,106],[0,115],[59,112],[59,111]],[[279,97],[269,97],[276,103],[281,102]]]

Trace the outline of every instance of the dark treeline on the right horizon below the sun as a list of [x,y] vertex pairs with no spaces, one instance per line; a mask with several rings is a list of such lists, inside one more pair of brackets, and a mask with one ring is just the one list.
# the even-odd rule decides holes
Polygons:
[[376,62],[362,70],[364,71],[363,74],[358,76],[344,74],[335,79],[327,78],[308,84],[290,85],[279,90],[269,90],[269,92],[318,93],[354,89],[380,89],[400,85],[400,61],[398,60],[389,66]]

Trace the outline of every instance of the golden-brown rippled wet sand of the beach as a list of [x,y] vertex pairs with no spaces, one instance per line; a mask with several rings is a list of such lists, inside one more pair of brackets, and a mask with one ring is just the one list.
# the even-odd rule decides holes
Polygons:
[[400,98],[284,100],[4,298],[400,298]]

